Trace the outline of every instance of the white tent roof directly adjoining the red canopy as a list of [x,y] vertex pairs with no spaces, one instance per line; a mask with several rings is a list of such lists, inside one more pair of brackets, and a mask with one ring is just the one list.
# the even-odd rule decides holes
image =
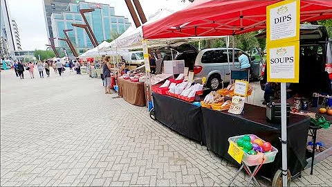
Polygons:
[[[158,19],[162,19],[171,15],[174,11],[168,10],[166,8],[162,8],[158,10],[154,15],[149,17],[149,21],[145,24],[150,24]],[[143,24],[142,26],[144,26]],[[129,27],[122,35],[120,35],[117,39],[114,39],[113,42],[105,45],[100,48],[100,51],[109,51],[111,49],[134,49],[134,48],[142,48],[142,39],[143,32],[142,26],[138,28]],[[149,48],[160,47],[160,46],[169,46],[171,44],[180,43],[180,42],[196,42],[201,39],[212,39],[212,38],[220,38],[220,37],[187,37],[187,38],[169,38],[169,39],[149,39],[147,44]]]

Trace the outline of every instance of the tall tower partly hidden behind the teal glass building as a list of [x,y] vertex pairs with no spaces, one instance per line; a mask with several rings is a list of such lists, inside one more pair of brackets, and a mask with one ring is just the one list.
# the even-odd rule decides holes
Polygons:
[[[69,3],[75,3],[85,0],[43,0],[44,17],[48,38],[53,38],[52,23],[50,16],[53,12],[64,12]],[[53,41],[53,40],[52,40]],[[52,43],[53,44],[53,43]]]

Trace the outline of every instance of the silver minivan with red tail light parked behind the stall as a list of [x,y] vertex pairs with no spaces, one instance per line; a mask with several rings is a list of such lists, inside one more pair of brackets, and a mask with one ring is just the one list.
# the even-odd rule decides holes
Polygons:
[[[239,70],[239,59],[237,53],[242,51],[239,48],[234,49],[234,66],[232,64],[232,48],[206,48],[199,51],[194,64],[194,81],[201,82],[202,78],[206,78],[205,86],[212,90],[219,89],[221,82],[230,82],[230,70]],[[228,63],[227,53],[230,57]],[[252,69],[259,69],[259,62],[254,62],[255,57],[248,56]],[[257,67],[256,67],[257,66]],[[255,72],[251,72],[252,76]],[[259,71],[258,71],[259,73]]]

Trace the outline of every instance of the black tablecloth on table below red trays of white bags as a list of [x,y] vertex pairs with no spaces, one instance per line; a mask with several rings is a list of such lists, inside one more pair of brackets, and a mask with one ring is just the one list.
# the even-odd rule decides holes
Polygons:
[[152,96],[154,98],[154,115],[157,121],[190,139],[204,141],[202,139],[201,107],[156,93],[152,93]]

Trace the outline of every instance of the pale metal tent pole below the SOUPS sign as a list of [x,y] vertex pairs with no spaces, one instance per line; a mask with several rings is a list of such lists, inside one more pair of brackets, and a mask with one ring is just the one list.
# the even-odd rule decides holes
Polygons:
[[287,186],[287,100],[286,83],[281,83],[282,101],[282,186]]

